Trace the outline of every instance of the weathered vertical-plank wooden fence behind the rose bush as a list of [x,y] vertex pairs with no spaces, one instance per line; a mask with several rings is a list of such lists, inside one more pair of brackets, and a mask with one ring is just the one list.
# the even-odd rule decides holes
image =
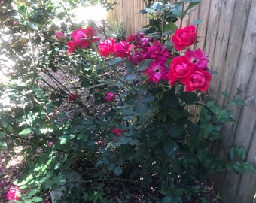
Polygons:
[[[113,1],[113,0],[111,0]],[[144,8],[142,0],[117,0],[112,17],[123,20],[129,35],[147,23],[145,15],[137,14]],[[242,97],[246,107],[235,107],[236,124],[224,127],[224,140],[218,152],[227,159],[233,144],[245,147],[248,162],[256,166],[256,1],[203,0],[197,10],[186,17],[185,24],[202,19],[197,26],[199,43],[209,57],[209,68],[217,71],[209,89],[211,98],[219,105],[227,103],[221,91],[232,97]],[[256,175],[224,174],[215,177],[215,188],[224,203],[256,202]]]

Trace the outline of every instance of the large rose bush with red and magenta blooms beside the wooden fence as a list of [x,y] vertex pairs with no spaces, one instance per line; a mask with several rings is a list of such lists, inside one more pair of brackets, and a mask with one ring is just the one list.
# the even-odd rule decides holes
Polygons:
[[[212,74],[209,59],[194,50],[196,26],[175,26],[199,2],[155,2],[145,9],[151,13],[145,32],[122,41],[98,36],[95,25],[50,27],[47,47],[38,51],[39,69],[23,78],[30,85],[18,86],[15,111],[1,114],[1,144],[5,135],[9,148],[26,143],[23,176],[15,182],[20,201],[42,201],[35,195],[68,184],[70,168],[83,174],[84,184],[67,188],[59,202],[111,201],[110,185],[150,193],[151,201],[191,202],[209,175],[253,170],[243,148],[231,149],[229,162],[210,150],[224,123],[233,122],[232,111],[206,101]],[[44,85],[34,86],[35,80]],[[13,89],[5,92],[17,101]],[[191,111],[193,105],[200,112]]]

